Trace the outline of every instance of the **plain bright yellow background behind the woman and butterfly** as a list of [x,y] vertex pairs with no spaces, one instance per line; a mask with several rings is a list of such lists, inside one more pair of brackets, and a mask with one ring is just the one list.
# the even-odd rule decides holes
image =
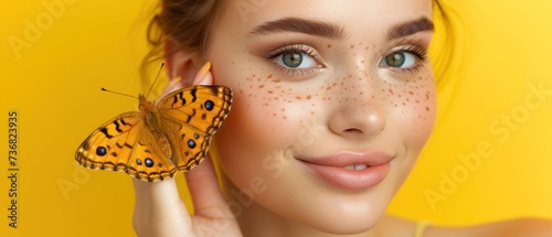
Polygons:
[[[131,236],[130,177],[79,168],[74,152],[98,125],[136,109],[135,99],[99,87],[141,91],[138,64],[151,3],[67,0],[54,15],[43,2],[63,1],[8,0],[0,8],[0,236]],[[552,3],[470,4],[469,65],[439,94],[435,133],[389,213],[446,225],[552,218],[552,96],[522,114],[530,86],[552,90]],[[14,51],[9,39],[25,40],[25,22],[36,20],[41,35]],[[10,110],[18,111],[20,139],[17,229],[7,217]],[[512,112],[518,128],[499,140],[489,127]],[[458,155],[477,152],[479,143],[492,154],[432,205],[425,193],[439,193],[442,174],[461,170]]]

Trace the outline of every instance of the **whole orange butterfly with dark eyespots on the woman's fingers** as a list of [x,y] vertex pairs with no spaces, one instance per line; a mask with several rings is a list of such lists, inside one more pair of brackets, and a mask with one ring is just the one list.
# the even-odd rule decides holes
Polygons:
[[88,169],[125,171],[147,182],[190,171],[206,155],[211,138],[230,112],[232,90],[193,86],[164,96],[157,106],[139,95],[139,110],[99,126],[75,159]]

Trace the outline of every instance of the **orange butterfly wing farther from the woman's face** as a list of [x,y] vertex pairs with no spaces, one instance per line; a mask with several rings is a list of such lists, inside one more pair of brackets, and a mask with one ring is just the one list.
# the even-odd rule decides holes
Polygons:
[[125,171],[152,182],[174,175],[177,168],[170,162],[170,155],[167,138],[148,129],[140,112],[130,111],[88,136],[78,147],[75,159],[85,168]]

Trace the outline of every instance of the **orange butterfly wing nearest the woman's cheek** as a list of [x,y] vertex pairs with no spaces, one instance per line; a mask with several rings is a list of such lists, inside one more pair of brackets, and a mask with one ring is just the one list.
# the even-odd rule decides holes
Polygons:
[[232,90],[224,86],[194,86],[173,91],[157,105],[172,143],[172,162],[188,171],[206,155],[211,138],[230,112]]

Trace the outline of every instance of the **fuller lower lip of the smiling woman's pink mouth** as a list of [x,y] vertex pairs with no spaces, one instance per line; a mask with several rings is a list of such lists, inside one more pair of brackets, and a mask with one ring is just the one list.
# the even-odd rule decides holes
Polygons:
[[314,173],[327,183],[347,190],[362,190],[375,186],[388,175],[390,163],[369,166],[354,171],[344,168],[305,163]]

